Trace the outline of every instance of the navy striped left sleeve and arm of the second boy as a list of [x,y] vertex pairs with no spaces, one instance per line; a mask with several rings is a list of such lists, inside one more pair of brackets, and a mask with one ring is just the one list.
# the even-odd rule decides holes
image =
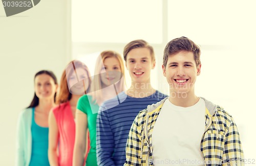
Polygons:
[[[101,110],[101,109],[100,109]],[[106,111],[97,116],[96,154],[98,166],[114,166],[114,135]]]

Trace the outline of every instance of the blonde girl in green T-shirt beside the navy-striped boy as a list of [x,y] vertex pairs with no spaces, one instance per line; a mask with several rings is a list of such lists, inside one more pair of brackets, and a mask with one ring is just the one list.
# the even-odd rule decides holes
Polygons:
[[[105,100],[124,91],[123,60],[115,51],[103,51],[96,61],[91,91],[79,98],[76,110],[76,136],[73,165],[97,166],[96,158],[96,119],[99,105]],[[87,130],[90,132],[90,151],[85,154]],[[87,156],[84,161],[84,156]]]

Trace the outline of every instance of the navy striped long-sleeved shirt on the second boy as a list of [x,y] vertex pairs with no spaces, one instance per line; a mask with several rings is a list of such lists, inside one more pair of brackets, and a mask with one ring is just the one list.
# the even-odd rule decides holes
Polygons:
[[157,103],[165,97],[159,91],[144,98],[133,98],[122,92],[118,94],[118,98],[105,101],[101,105],[96,135],[99,166],[124,164],[126,141],[135,117],[147,105]]

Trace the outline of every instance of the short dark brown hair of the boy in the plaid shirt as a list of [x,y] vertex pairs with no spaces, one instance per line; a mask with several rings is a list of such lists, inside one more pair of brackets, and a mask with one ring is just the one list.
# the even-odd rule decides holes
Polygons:
[[194,54],[194,59],[196,61],[196,65],[200,65],[200,54],[201,50],[198,45],[196,45],[192,40],[182,36],[180,38],[173,39],[167,43],[163,52],[163,65],[166,67],[168,57],[171,54],[178,53],[180,51],[190,51]]

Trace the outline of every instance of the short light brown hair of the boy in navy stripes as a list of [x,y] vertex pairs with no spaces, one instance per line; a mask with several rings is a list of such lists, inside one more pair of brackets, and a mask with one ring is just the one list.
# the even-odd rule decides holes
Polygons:
[[148,48],[150,50],[150,55],[152,60],[155,60],[155,53],[153,47],[148,44],[145,40],[139,39],[131,41],[130,43],[126,44],[123,49],[123,59],[126,62],[127,54],[134,48]]

